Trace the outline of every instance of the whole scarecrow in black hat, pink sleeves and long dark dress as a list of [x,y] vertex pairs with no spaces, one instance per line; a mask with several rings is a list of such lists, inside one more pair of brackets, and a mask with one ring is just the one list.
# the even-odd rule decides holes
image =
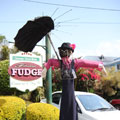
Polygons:
[[48,62],[45,63],[45,69],[42,74],[44,76],[46,73],[45,71],[51,66],[61,68],[62,99],[60,120],[78,120],[77,103],[74,95],[74,79],[76,78],[75,71],[80,67],[103,68],[103,64],[101,62],[83,59],[70,59],[70,56],[74,52],[75,44],[63,43],[58,49],[61,60],[49,59]]

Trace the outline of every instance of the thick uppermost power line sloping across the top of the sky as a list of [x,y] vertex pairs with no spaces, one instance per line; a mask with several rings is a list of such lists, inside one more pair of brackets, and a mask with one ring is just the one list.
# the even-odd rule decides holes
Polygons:
[[61,7],[80,8],[80,9],[94,9],[94,10],[104,10],[104,11],[117,11],[117,12],[120,12],[119,9],[82,7],[82,6],[76,6],[76,5],[66,5],[66,4],[57,4],[57,3],[49,3],[49,2],[40,2],[40,1],[34,1],[34,0],[24,0],[24,1],[34,2],[34,3],[39,3],[39,4],[46,4],[46,5],[53,5],[53,6],[61,6]]

